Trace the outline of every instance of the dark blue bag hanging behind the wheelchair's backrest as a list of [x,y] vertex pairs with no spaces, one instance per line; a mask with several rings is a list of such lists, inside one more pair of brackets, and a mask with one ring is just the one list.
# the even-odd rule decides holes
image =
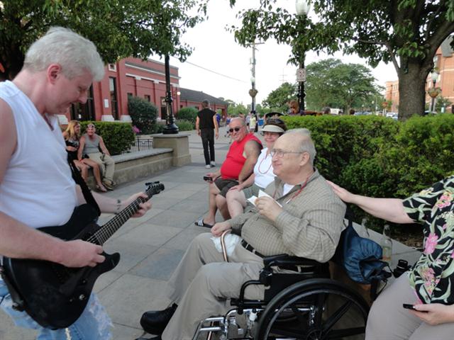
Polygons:
[[387,263],[381,261],[382,247],[372,239],[358,235],[349,223],[342,232],[333,261],[343,266],[348,276],[358,283],[370,284],[380,276]]

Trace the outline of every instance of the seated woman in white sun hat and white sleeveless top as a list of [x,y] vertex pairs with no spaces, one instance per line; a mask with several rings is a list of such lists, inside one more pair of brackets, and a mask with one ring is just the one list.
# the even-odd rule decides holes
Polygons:
[[257,163],[255,163],[254,173],[243,183],[233,186],[226,195],[228,212],[231,217],[243,213],[248,203],[247,199],[251,196],[258,196],[258,191],[263,190],[275,179],[272,172],[272,162],[270,151],[275,145],[279,136],[287,130],[284,121],[279,118],[268,118],[260,133],[264,137],[266,147],[262,149]]

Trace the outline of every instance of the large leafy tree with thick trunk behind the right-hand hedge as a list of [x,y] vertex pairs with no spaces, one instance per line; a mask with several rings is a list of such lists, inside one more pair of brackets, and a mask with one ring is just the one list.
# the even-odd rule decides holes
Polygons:
[[454,32],[454,1],[312,0],[317,22],[297,17],[276,2],[260,0],[260,8],[240,12],[242,26],[232,30],[241,45],[275,38],[292,46],[293,64],[306,50],[357,53],[372,66],[392,62],[399,77],[399,119],[423,114],[433,56]]

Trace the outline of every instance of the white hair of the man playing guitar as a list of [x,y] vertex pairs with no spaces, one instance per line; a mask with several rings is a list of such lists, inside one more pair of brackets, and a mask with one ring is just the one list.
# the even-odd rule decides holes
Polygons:
[[90,40],[68,28],[52,27],[33,42],[23,62],[25,69],[40,72],[50,64],[60,64],[62,73],[73,79],[83,72],[90,72],[95,81],[104,77],[104,62]]

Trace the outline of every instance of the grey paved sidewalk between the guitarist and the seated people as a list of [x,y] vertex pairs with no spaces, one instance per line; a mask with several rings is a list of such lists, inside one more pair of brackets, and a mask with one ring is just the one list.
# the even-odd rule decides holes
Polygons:
[[[216,140],[216,168],[222,163],[228,151],[229,139],[223,137],[221,128]],[[203,148],[200,137],[190,132],[189,149],[192,164],[172,168],[151,178],[139,179],[118,186],[106,193],[115,198],[126,198],[132,193],[143,191],[145,182],[160,181],[165,191],[153,197],[153,208],[147,215],[126,222],[104,245],[107,253],[119,252],[121,261],[114,270],[105,273],[97,281],[94,290],[114,322],[115,340],[133,340],[143,334],[139,319],[146,310],[167,307],[164,296],[167,280],[182,258],[189,242],[209,229],[196,227],[194,221],[204,215],[208,207],[208,186],[202,176],[204,168]],[[103,214],[102,225],[111,218]],[[221,220],[218,217],[217,220]],[[416,251],[393,242],[394,259],[408,259],[417,256]],[[0,312],[1,340],[33,340],[35,331],[18,329]]]

